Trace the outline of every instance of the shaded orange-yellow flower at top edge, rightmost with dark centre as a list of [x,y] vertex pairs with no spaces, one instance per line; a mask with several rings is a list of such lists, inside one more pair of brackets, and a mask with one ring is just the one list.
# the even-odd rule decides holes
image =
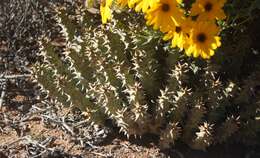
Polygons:
[[225,3],[226,0],[196,0],[196,2],[192,4],[191,15],[199,15],[199,21],[223,20],[226,18],[222,10]]

